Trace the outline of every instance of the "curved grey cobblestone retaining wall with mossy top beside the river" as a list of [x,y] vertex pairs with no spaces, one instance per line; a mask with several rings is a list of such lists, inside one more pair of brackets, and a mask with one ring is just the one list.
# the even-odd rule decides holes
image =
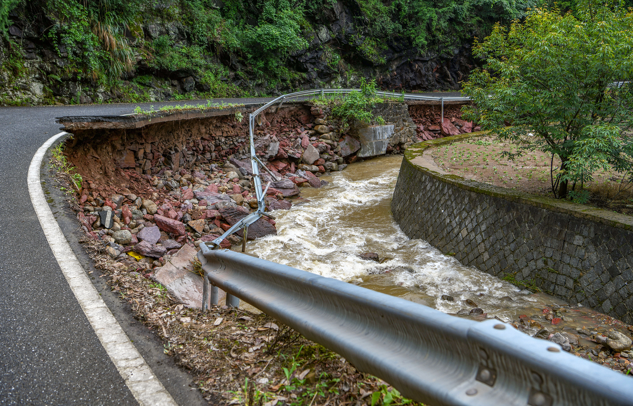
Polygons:
[[405,153],[391,202],[404,233],[462,264],[633,323],[633,217],[416,164],[427,144],[451,138],[464,137]]

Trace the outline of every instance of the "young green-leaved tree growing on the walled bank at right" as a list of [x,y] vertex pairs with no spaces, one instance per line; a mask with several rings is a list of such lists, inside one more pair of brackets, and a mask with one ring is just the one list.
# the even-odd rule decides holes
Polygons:
[[633,85],[622,84],[633,74],[632,9],[596,0],[579,1],[576,16],[536,9],[509,29],[496,25],[473,54],[484,66],[463,83],[474,102],[465,118],[520,145],[509,159],[551,154],[556,197],[597,169],[632,168]]

